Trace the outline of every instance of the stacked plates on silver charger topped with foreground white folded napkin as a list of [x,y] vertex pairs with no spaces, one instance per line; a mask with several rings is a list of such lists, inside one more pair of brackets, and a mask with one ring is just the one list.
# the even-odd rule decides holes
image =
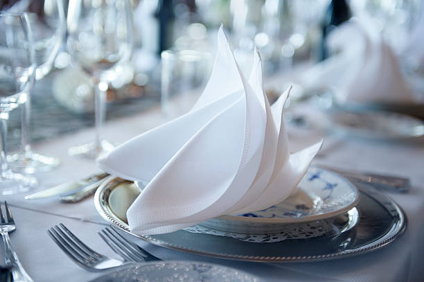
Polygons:
[[[280,123],[281,125],[278,141],[274,140],[274,146],[276,146],[276,154],[285,152],[285,157],[279,158],[285,159],[285,163],[281,164],[281,161],[272,162],[272,156],[258,155],[256,157],[254,153],[250,159],[250,162],[253,162],[255,161],[254,157],[256,157],[258,175],[271,177],[265,178],[265,182],[263,182],[268,182],[268,186],[265,188],[263,185],[255,186],[255,183],[260,183],[260,181],[264,180],[260,177],[256,178],[258,175],[251,176],[251,178],[254,178],[254,182],[244,194],[236,196],[236,200],[234,200],[236,207],[231,207],[231,203],[227,205],[222,203],[222,206],[218,206],[220,200],[227,200],[227,197],[224,198],[225,194],[222,194],[216,196],[215,199],[217,200],[210,200],[212,204],[207,206],[206,209],[196,212],[191,211],[191,209],[195,209],[197,203],[200,204],[206,201],[207,197],[211,197],[207,195],[211,186],[206,183],[211,181],[208,179],[216,179],[218,177],[213,176],[210,178],[209,176],[214,166],[214,156],[208,156],[209,152],[204,152],[206,154],[204,158],[209,157],[204,165],[209,168],[206,171],[202,171],[202,168],[198,167],[200,164],[193,167],[188,157],[184,156],[184,152],[186,154],[193,152],[193,149],[188,150],[184,147],[190,146],[191,143],[195,146],[195,139],[201,138],[202,131],[190,132],[192,137],[191,139],[185,139],[189,143],[181,143],[183,147],[175,147],[174,144],[168,142],[167,138],[153,138],[152,136],[156,135],[158,137],[159,134],[166,136],[165,134],[167,134],[168,130],[169,132],[175,132],[175,130],[181,132],[183,127],[179,127],[179,130],[177,128],[179,124],[183,123],[184,129],[189,131],[187,124],[191,124],[191,116],[206,112],[208,110],[207,107],[213,107],[217,103],[224,101],[224,99],[229,99],[229,97],[224,96],[225,92],[219,88],[218,91],[208,91],[209,87],[215,89],[219,87],[214,82],[217,79],[215,76],[220,73],[220,68],[229,69],[232,64],[233,71],[238,73],[235,61],[228,63],[229,65],[219,65],[221,54],[222,57],[225,54],[225,58],[231,58],[231,49],[222,30],[220,30],[220,38],[218,40],[220,40],[218,42],[219,51],[211,78],[197,102],[201,103],[202,100],[205,100],[209,104],[200,104],[198,111],[189,112],[175,121],[141,134],[116,148],[114,152],[104,159],[98,160],[98,164],[103,170],[118,176],[111,176],[105,179],[96,191],[94,204],[100,215],[113,227],[121,229],[121,231],[130,234],[134,238],[145,240],[154,245],[193,254],[243,261],[324,261],[371,252],[396,240],[406,228],[406,218],[400,207],[389,197],[376,191],[372,186],[369,187],[364,182],[350,182],[345,177],[330,170],[309,167],[310,161],[318,152],[321,143],[294,154],[288,153],[287,132],[285,132],[284,123],[281,122],[283,100],[277,100],[272,107],[265,100],[262,113],[258,110],[258,116],[249,117],[252,120],[258,120],[260,118],[259,114],[263,114],[263,121],[265,121],[265,116],[267,116],[267,118],[273,118],[274,124],[278,125]],[[260,57],[257,54],[256,66],[258,65],[260,65]],[[254,83],[260,83],[261,81],[260,68],[253,69],[252,76],[255,75],[256,71],[256,78],[251,77],[249,80],[250,88],[245,87],[243,91],[246,95],[246,101],[248,101],[247,95],[249,91],[255,89]],[[240,82],[244,82],[244,78],[242,78],[240,73],[239,76]],[[240,85],[243,84],[240,83]],[[259,94],[263,95],[262,87],[257,89]],[[290,89],[280,99],[284,99],[289,91]],[[207,94],[212,96],[212,93],[220,93],[223,97],[213,100],[213,98],[206,96]],[[236,99],[236,97],[233,98],[233,100]],[[225,105],[228,104],[224,104],[222,108],[226,109]],[[277,110],[274,106],[280,107],[279,112],[276,112]],[[247,108],[249,109],[250,107],[248,106]],[[274,111],[272,112],[273,109]],[[221,113],[219,109],[218,113]],[[243,113],[240,110],[239,114]],[[249,113],[245,114],[248,115]],[[279,119],[276,119],[276,117]],[[270,119],[267,121],[270,121]],[[244,123],[241,124],[244,125]],[[265,128],[262,131],[265,133],[263,144],[270,142],[267,148],[270,148],[270,144],[272,144],[271,133],[267,135],[267,132],[272,132],[267,128],[269,124],[269,122],[263,123]],[[200,130],[207,130],[205,127],[199,128]],[[220,130],[224,130],[224,128],[220,128]],[[251,130],[253,130],[253,127]],[[249,131],[242,130],[241,132]],[[252,135],[252,137],[254,136],[256,134]],[[234,137],[231,138],[233,139]],[[138,161],[140,157],[134,154],[134,152],[143,150],[141,148],[150,148],[150,146],[147,146],[149,140],[166,140],[166,148],[174,148],[173,152],[164,152],[164,148],[158,148],[157,150],[160,150],[160,154],[159,152],[140,152],[146,160],[149,159],[147,154],[154,154],[152,155],[152,160],[159,164],[157,174],[152,171],[151,161],[147,161],[146,164],[149,164],[149,167],[146,167],[142,162]],[[251,144],[256,143],[254,139],[250,139],[250,142]],[[220,145],[217,144],[216,146]],[[137,147],[139,148],[138,150],[136,150]],[[239,150],[241,151],[242,148]],[[164,167],[160,166],[165,161],[158,159],[158,155],[161,154],[164,157],[170,157],[170,161]],[[184,159],[184,163],[179,163],[179,158],[181,160]],[[227,160],[228,157],[225,158],[224,164],[230,161]],[[264,161],[264,158],[267,158],[265,160],[270,160],[270,162]],[[218,162],[220,166],[224,165],[222,160]],[[238,165],[240,166],[240,164]],[[245,168],[249,168],[249,166],[254,165],[247,162]],[[276,166],[277,169],[278,166],[280,167],[277,170],[279,173],[275,173]],[[237,171],[238,174],[241,174],[243,170],[238,168]],[[185,180],[187,179],[186,174],[199,174],[192,177],[199,177],[200,180],[194,183],[187,182]],[[272,177],[273,174],[274,177]],[[149,181],[148,177],[150,175],[153,178]],[[274,183],[275,186],[272,185],[272,179],[276,181]],[[135,182],[131,180],[135,180]],[[300,183],[297,184],[297,182]],[[161,183],[161,185],[150,188],[153,187],[151,185],[156,183]],[[237,184],[234,179],[231,182],[231,185],[233,184]],[[189,185],[193,185],[193,188]],[[236,186],[231,187],[231,185],[225,186],[227,190],[224,190],[223,193],[232,192],[238,194],[243,191],[242,188],[239,188],[240,191],[236,191]],[[192,196],[185,192],[184,198],[180,199],[178,192],[173,191],[177,190],[177,187],[181,187],[184,191],[193,191],[197,195]],[[230,192],[229,189],[231,188],[234,191]],[[260,192],[255,191],[254,188]],[[168,195],[168,193],[173,195]],[[269,194],[267,195],[267,193]],[[143,197],[148,200],[144,202]],[[169,200],[166,200],[167,198]],[[188,198],[191,199],[191,202],[188,202]],[[243,201],[243,198],[245,201]],[[253,202],[251,202],[252,200]],[[161,207],[162,202],[164,203],[163,207]],[[243,202],[250,202],[250,207],[249,205],[245,206]],[[214,208],[215,205],[218,207]],[[209,212],[207,212],[208,209],[210,209]],[[223,210],[228,212],[222,213]],[[176,215],[177,213],[188,213],[188,215],[184,218],[182,215]],[[376,228],[375,222],[385,222],[387,225],[381,225]],[[194,223],[197,224],[193,226]],[[149,230],[148,233],[151,234],[143,233],[142,230],[144,228],[147,228]],[[358,238],[357,234],[362,233],[366,233],[367,236]],[[316,247],[312,248],[312,246]]]

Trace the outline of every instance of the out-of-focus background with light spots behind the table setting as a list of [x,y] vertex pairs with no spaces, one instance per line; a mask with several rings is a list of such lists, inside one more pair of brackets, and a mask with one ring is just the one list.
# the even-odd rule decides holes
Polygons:
[[[1,0],[0,8],[27,5],[42,14],[48,8],[46,3]],[[394,50],[402,71],[414,73],[417,81],[423,77],[423,64],[416,57],[409,58],[410,52],[403,52],[423,18],[420,0],[132,0],[131,4],[132,57],[110,70],[114,75],[108,81],[107,119],[159,104],[166,115],[173,95],[201,91],[213,65],[221,25],[247,76],[254,47],[259,49],[265,76],[274,78],[277,85],[265,87],[270,100],[278,97],[287,83],[293,83],[283,79],[288,74],[337,54],[326,43],[328,35],[363,14]],[[65,15],[67,7],[68,1],[64,1]],[[347,44],[354,44],[351,40]],[[66,42],[64,38],[51,73],[33,90],[34,141],[94,124],[93,85],[72,64]],[[424,49],[422,42],[418,49]],[[299,91],[299,96],[304,94]],[[19,111],[15,111],[10,118],[11,146],[19,143],[19,123]]]

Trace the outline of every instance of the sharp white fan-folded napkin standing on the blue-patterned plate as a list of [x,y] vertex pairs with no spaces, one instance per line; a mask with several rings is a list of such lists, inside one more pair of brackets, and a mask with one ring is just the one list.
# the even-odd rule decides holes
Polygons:
[[289,92],[270,107],[258,51],[247,81],[220,28],[211,78],[193,109],[98,159],[112,175],[148,182],[127,211],[132,232],[172,232],[288,197],[321,146],[290,154]]

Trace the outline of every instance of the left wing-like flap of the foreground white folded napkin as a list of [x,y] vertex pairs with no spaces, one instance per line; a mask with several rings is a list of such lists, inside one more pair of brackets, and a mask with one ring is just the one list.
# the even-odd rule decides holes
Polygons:
[[[238,93],[224,96],[201,109],[136,136],[118,146],[106,159],[100,159],[98,166],[124,179],[150,182],[204,123],[222,111],[224,105],[235,103],[238,99]],[[144,161],[146,159],[149,161]]]

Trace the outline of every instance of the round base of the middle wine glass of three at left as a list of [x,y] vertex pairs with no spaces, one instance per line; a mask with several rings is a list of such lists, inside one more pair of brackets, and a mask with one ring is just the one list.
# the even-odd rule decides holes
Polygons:
[[39,173],[59,166],[60,160],[36,152],[17,152],[8,156],[8,164],[17,173]]

